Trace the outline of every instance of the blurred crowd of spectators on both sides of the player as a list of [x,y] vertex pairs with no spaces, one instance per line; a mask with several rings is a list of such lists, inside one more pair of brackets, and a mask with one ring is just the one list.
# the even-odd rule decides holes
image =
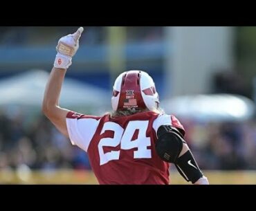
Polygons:
[[[91,169],[88,157],[72,146],[44,116],[24,124],[24,114],[0,111],[0,169]],[[256,169],[256,122],[181,120],[185,139],[202,169]]]

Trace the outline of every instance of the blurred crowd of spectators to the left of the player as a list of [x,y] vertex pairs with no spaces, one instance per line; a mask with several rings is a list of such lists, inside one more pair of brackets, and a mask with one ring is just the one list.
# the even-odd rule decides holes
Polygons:
[[[11,118],[10,118],[11,117]],[[40,116],[24,124],[23,113],[10,116],[0,112],[0,169],[90,169],[86,154]]]

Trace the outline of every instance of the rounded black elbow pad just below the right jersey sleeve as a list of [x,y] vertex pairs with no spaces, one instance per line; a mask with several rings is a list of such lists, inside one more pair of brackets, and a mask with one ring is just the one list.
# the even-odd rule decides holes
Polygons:
[[156,153],[162,160],[175,163],[183,147],[182,138],[167,125],[159,127],[157,135]]

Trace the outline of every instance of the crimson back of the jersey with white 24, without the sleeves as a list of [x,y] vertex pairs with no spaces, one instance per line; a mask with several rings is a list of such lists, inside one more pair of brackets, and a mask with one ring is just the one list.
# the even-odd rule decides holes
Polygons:
[[100,183],[169,183],[169,165],[154,150],[157,116],[152,111],[118,118],[103,116],[88,149]]

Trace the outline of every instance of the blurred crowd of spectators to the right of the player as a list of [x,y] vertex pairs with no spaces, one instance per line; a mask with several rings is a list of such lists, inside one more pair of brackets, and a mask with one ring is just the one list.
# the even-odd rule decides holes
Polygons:
[[183,120],[187,140],[202,169],[256,169],[256,121]]

